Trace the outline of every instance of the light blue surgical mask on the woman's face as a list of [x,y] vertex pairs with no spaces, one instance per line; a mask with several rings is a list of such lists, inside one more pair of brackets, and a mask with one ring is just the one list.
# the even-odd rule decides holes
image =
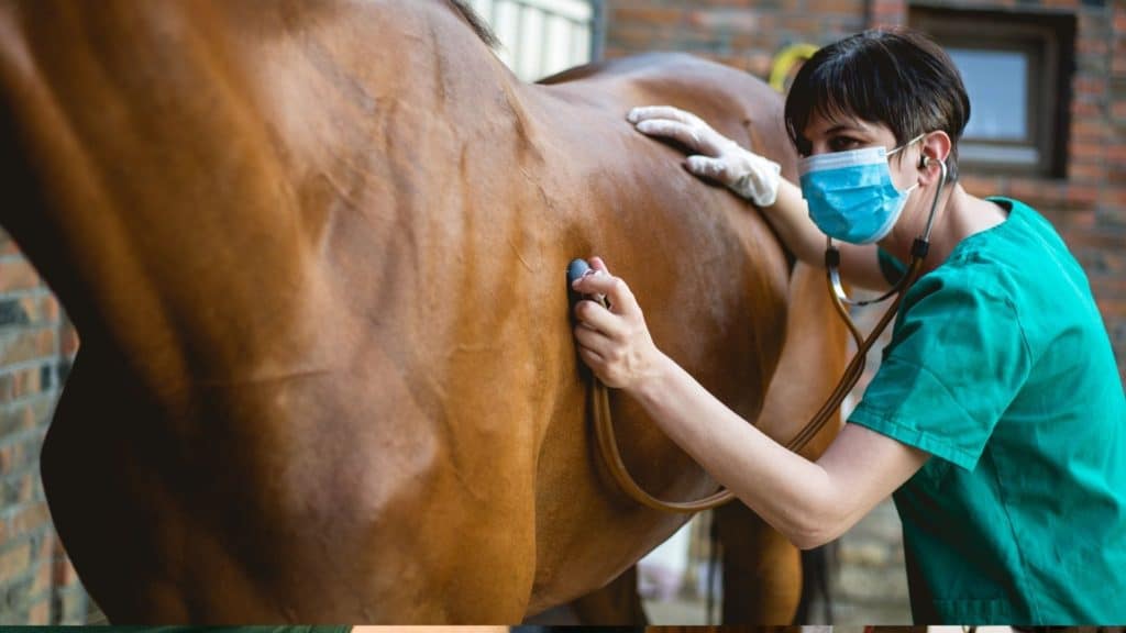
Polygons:
[[922,139],[904,145],[864,148],[807,157],[798,161],[802,197],[810,206],[810,219],[830,238],[868,244],[891,232],[908,196],[917,185],[899,190],[892,182],[888,157]]

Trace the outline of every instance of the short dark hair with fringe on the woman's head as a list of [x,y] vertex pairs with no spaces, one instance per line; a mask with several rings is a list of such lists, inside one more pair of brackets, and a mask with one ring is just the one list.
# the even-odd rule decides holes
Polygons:
[[950,56],[910,29],[873,29],[821,48],[806,61],[786,97],[786,130],[802,155],[813,114],[851,115],[887,125],[897,145],[942,131],[953,146],[946,166],[958,177],[958,139],[969,121],[969,97]]

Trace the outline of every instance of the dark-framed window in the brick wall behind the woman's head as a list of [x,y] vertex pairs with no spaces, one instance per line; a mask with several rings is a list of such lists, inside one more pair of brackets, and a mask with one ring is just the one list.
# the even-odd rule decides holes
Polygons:
[[909,21],[949,53],[969,93],[959,163],[1063,177],[1074,16],[912,7]]

